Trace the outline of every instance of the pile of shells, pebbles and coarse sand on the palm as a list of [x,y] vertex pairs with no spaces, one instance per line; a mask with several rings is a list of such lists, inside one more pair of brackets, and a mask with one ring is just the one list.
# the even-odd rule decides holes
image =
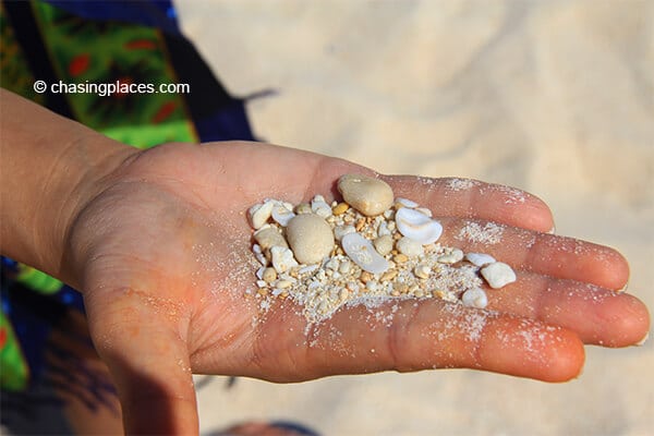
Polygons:
[[483,308],[484,283],[499,289],[516,281],[510,266],[484,253],[441,246],[443,226],[429,209],[396,198],[383,180],[346,174],[343,201],[316,195],[292,205],[265,199],[252,206],[252,251],[261,263],[257,289],[267,310],[271,299],[290,298],[310,322],[348,303],[370,299],[439,298]]

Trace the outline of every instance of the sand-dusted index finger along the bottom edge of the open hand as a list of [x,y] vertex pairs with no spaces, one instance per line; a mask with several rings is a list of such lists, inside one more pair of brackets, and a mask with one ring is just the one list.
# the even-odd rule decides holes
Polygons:
[[[262,329],[251,375],[288,382],[463,367],[564,382],[576,377],[584,361],[583,344],[570,330],[436,300],[348,307],[311,327],[306,337],[291,314],[278,320],[270,325],[283,323],[284,329],[300,331],[289,336]],[[274,341],[274,335],[280,340]]]

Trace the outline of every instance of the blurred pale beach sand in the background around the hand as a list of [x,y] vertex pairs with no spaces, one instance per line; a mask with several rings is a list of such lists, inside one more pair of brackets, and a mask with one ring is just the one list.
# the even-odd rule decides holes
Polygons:
[[[179,2],[269,142],[389,173],[533,192],[557,232],[620,250],[654,307],[654,2]],[[217,377],[203,431],[284,417],[327,435],[645,435],[654,341],[588,348],[562,385],[472,371],[299,385]]]

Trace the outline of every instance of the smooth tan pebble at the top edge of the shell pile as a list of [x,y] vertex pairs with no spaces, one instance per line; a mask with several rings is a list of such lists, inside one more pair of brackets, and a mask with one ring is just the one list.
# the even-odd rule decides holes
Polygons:
[[392,206],[392,190],[385,181],[362,174],[346,174],[338,180],[338,191],[350,206],[373,217]]

